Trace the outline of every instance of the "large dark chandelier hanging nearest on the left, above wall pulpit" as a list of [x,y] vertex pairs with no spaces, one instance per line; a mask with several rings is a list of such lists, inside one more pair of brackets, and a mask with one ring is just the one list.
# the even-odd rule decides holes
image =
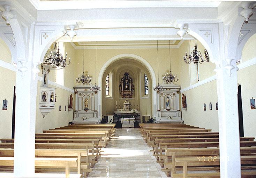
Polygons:
[[[57,48],[57,51],[56,51]],[[53,49],[54,51],[51,51],[50,56],[47,55],[44,64],[51,65],[51,66],[61,66],[61,67],[66,67],[65,65],[69,65],[71,63],[71,59],[69,58],[69,62],[67,62],[67,55],[68,53],[66,52],[66,55],[63,58],[63,55],[59,52],[59,45],[57,47],[57,43],[53,43]],[[52,49],[52,50],[53,50]]]

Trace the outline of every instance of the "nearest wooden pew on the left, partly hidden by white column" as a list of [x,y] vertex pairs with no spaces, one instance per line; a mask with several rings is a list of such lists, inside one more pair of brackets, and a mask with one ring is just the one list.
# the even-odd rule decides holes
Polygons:
[[[14,157],[0,157],[0,166],[13,166],[13,162]],[[65,167],[69,177],[70,167],[77,167],[77,158],[35,157],[35,167]]]

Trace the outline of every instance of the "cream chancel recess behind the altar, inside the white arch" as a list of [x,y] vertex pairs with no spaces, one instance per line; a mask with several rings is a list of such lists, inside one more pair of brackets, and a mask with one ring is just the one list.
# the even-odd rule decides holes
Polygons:
[[[102,86],[105,84],[105,76],[107,76],[108,73],[112,73],[113,77],[113,97],[107,97],[105,92],[102,92],[102,115],[114,115],[116,110],[122,110],[123,103],[125,103],[127,98],[130,102],[130,110],[135,109],[140,111],[140,117],[137,118],[138,122],[142,122],[143,115],[151,117],[152,79],[146,66],[141,62],[130,58],[116,60],[106,68],[101,81]],[[143,77],[141,73],[143,73]],[[150,83],[149,94],[147,97],[141,95],[141,93],[144,92],[144,73],[148,74],[148,80]],[[128,80],[125,79],[126,77]],[[143,82],[141,82],[142,80]],[[125,88],[126,86],[127,88]]]

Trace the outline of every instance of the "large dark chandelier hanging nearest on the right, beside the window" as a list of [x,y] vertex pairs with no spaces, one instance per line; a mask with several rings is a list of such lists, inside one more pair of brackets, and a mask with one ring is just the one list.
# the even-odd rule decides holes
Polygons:
[[[195,40],[195,46],[194,46],[194,50],[191,52],[190,55],[186,55],[183,56],[183,60],[185,63],[190,64],[191,62],[193,62],[194,64],[202,64],[203,62],[209,62],[209,55],[206,49],[204,49],[204,56],[202,56],[201,52],[197,50],[197,46],[196,46],[196,40]],[[203,59],[205,58],[205,59]],[[187,60],[189,59],[189,60]]]

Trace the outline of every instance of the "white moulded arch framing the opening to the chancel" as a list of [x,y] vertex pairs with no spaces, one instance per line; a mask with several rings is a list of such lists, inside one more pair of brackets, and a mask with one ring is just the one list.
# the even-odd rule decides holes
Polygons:
[[[103,74],[105,72],[105,70],[107,69],[108,66],[110,66],[113,62],[120,60],[120,59],[134,59],[137,60],[138,62],[141,62],[149,71],[151,78],[152,78],[152,86],[156,85],[156,75],[155,72],[153,70],[153,68],[151,67],[151,65],[141,56],[135,55],[135,54],[120,54],[120,55],[116,55],[114,57],[112,57],[111,59],[109,59],[100,69],[100,73],[98,76],[98,83],[101,83],[102,78],[103,78]],[[101,112],[102,112],[102,100],[101,100],[101,91],[98,92],[98,119],[100,119],[101,117]],[[157,104],[157,94],[156,92],[152,92],[152,114],[153,117],[157,116],[156,113],[156,104]]]

